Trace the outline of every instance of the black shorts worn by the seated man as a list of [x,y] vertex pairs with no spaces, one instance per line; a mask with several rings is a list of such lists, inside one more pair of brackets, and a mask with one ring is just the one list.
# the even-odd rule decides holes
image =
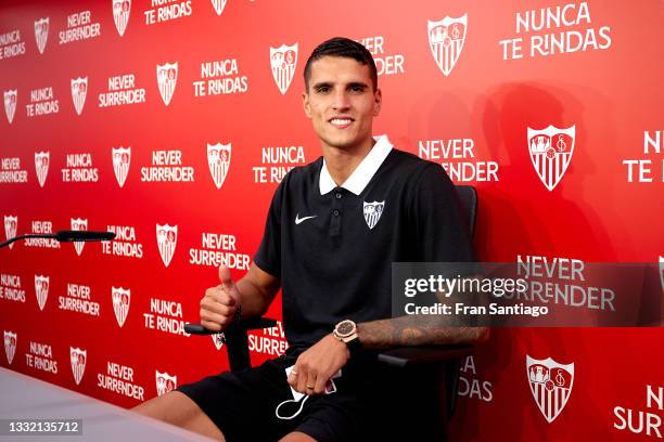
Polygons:
[[[319,442],[367,440],[363,434],[376,425],[371,416],[381,414],[376,413],[381,404],[374,394],[381,385],[382,376],[376,376],[381,370],[371,369],[371,362],[349,363],[342,368],[342,376],[333,379],[334,392],[309,396],[303,404],[293,400],[286,381],[285,368],[296,359],[296,354],[286,352],[258,367],[225,372],[177,390],[193,400],[229,442],[277,441],[291,431]],[[301,405],[296,417],[277,417],[278,406],[279,415],[289,417]]]

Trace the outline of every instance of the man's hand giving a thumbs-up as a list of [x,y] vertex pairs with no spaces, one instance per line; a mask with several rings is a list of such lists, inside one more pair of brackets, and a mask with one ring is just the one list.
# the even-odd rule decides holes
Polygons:
[[201,299],[201,324],[210,330],[221,332],[228,327],[240,306],[240,291],[226,265],[219,266],[219,284],[205,290]]

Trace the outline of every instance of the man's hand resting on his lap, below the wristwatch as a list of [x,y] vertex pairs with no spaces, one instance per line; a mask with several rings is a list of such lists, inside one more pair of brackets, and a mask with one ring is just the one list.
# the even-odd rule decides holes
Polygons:
[[297,392],[320,394],[328,380],[346,365],[349,358],[348,347],[332,334],[327,335],[297,358],[289,384]]

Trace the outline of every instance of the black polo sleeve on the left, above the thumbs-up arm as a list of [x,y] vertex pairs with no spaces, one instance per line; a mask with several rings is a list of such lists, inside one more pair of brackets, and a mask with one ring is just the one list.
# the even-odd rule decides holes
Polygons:
[[274,191],[267,221],[265,222],[263,240],[260,246],[258,246],[256,256],[254,256],[254,262],[260,270],[279,278],[281,278],[281,206],[285,182],[285,179],[282,180],[277,191]]

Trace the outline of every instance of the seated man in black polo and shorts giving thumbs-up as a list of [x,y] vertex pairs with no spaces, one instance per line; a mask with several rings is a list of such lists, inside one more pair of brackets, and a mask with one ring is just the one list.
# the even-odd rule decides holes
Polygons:
[[286,354],[138,412],[230,441],[357,440],[368,412],[384,405],[373,399],[385,381],[374,350],[483,335],[390,318],[392,262],[473,257],[443,168],[371,136],[382,94],[369,51],[345,38],[321,43],[305,89],[322,157],[284,177],[246,275],[234,283],[220,268],[220,285],[201,300],[202,324],[220,330],[263,315],[281,287]]

